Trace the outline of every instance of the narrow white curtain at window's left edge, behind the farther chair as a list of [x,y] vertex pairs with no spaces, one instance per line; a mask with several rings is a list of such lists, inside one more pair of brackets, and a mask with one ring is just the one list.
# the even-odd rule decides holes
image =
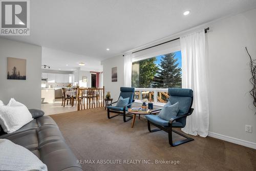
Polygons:
[[132,87],[132,66],[133,54],[126,54],[124,56],[124,87]]

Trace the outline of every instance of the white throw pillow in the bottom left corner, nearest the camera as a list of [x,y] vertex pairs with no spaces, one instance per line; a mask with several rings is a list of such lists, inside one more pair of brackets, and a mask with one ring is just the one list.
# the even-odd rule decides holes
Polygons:
[[27,148],[0,139],[0,170],[47,171],[47,166]]

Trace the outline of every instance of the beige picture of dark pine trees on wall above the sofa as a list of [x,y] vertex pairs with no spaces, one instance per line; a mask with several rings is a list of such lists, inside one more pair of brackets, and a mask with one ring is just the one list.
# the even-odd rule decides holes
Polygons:
[[26,59],[7,58],[7,79],[26,80]]

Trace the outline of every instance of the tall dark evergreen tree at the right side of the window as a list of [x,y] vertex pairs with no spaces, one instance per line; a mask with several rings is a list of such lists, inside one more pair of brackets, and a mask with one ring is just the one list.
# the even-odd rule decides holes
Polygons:
[[177,60],[175,53],[165,54],[162,57],[153,87],[181,88],[181,68],[178,67]]

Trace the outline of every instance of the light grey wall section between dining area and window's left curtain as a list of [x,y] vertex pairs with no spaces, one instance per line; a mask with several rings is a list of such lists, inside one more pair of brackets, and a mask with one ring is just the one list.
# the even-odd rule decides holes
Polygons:
[[[118,99],[120,87],[123,86],[123,64],[124,58],[122,55],[101,61],[101,65],[103,65],[103,86],[105,86],[105,93],[110,91],[111,98],[114,99],[113,101]],[[112,82],[111,80],[113,67],[117,67],[117,82]]]

